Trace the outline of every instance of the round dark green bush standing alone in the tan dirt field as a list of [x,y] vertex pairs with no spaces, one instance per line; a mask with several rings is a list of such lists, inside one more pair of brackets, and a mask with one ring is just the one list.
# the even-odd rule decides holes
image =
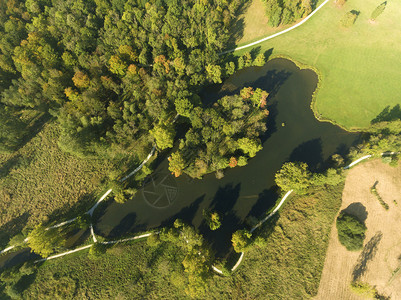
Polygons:
[[348,251],[358,251],[363,247],[366,226],[355,216],[341,212],[336,227],[338,240]]

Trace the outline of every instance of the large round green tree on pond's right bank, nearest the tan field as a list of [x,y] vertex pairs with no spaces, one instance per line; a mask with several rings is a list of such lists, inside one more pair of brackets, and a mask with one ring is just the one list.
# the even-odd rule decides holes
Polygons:
[[276,173],[276,184],[283,190],[305,194],[311,185],[312,174],[306,163],[287,162]]

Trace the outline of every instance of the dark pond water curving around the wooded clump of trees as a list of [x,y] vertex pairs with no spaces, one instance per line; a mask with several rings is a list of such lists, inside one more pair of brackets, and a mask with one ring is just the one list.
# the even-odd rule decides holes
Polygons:
[[[304,161],[312,170],[321,170],[331,155],[345,154],[358,140],[358,134],[315,119],[310,103],[317,81],[313,71],[300,70],[288,60],[274,59],[263,67],[237,72],[218,92],[205,90],[205,103],[238,92],[243,86],[270,93],[263,150],[247,166],[226,170],[220,180],[214,174],[202,180],[186,175],[174,178],[165,160],[134,199],[125,204],[110,202],[101,209],[96,232],[118,237],[171,225],[176,218],[182,218],[198,227],[223,255],[230,247],[232,232],[244,226],[245,218],[261,217],[276,203],[274,174],[284,162]],[[222,216],[220,229],[211,232],[206,228],[203,209],[215,210]]]

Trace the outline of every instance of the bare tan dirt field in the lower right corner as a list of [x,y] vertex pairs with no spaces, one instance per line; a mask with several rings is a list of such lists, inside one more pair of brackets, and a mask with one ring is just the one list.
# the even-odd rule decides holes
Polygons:
[[[378,193],[390,207],[387,211],[370,192],[376,181]],[[375,286],[381,295],[401,299],[401,270],[393,276],[401,267],[401,166],[392,168],[375,160],[351,169],[341,210],[347,208],[360,218],[367,213],[364,249],[347,251],[333,225],[316,299],[362,299],[349,288],[355,277]]]

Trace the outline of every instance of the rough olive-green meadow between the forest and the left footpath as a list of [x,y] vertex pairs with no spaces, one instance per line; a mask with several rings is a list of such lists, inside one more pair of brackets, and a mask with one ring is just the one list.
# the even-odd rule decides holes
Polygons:
[[48,122],[18,151],[0,154],[1,245],[26,225],[82,213],[105,188],[111,163],[62,152],[58,136]]

